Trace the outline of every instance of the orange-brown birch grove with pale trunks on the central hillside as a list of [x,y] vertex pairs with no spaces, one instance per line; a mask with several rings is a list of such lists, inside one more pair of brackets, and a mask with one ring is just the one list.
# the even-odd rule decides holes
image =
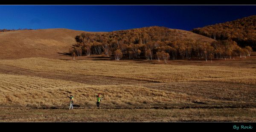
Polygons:
[[[228,36],[228,34],[224,34]],[[232,39],[218,40],[218,32],[209,36],[216,38],[211,43],[202,40],[192,40],[179,30],[165,27],[145,27],[140,29],[106,32],[102,34],[82,33],[75,37],[76,44],[70,48],[70,55],[102,55],[119,59],[198,59],[219,60],[249,57],[252,47],[241,48]],[[113,53],[113,54],[112,54]],[[163,56],[163,54],[165,55]],[[167,55],[168,54],[168,55]]]

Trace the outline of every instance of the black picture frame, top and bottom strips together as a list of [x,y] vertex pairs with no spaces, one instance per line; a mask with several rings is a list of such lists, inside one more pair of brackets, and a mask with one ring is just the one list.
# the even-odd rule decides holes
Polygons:
[[[0,5],[256,5],[253,0],[5,0]],[[163,131],[204,130],[240,131],[233,126],[252,126],[256,122],[169,122],[169,123],[0,123],[2,128],[57,131]],[[33,126],[33,128],[31,127]]]

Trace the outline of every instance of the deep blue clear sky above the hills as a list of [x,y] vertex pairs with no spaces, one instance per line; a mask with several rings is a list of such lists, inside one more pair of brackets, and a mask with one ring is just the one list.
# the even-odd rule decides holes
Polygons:
[[0,29],[191,30],[256,15],[256,6],[0,6]]

